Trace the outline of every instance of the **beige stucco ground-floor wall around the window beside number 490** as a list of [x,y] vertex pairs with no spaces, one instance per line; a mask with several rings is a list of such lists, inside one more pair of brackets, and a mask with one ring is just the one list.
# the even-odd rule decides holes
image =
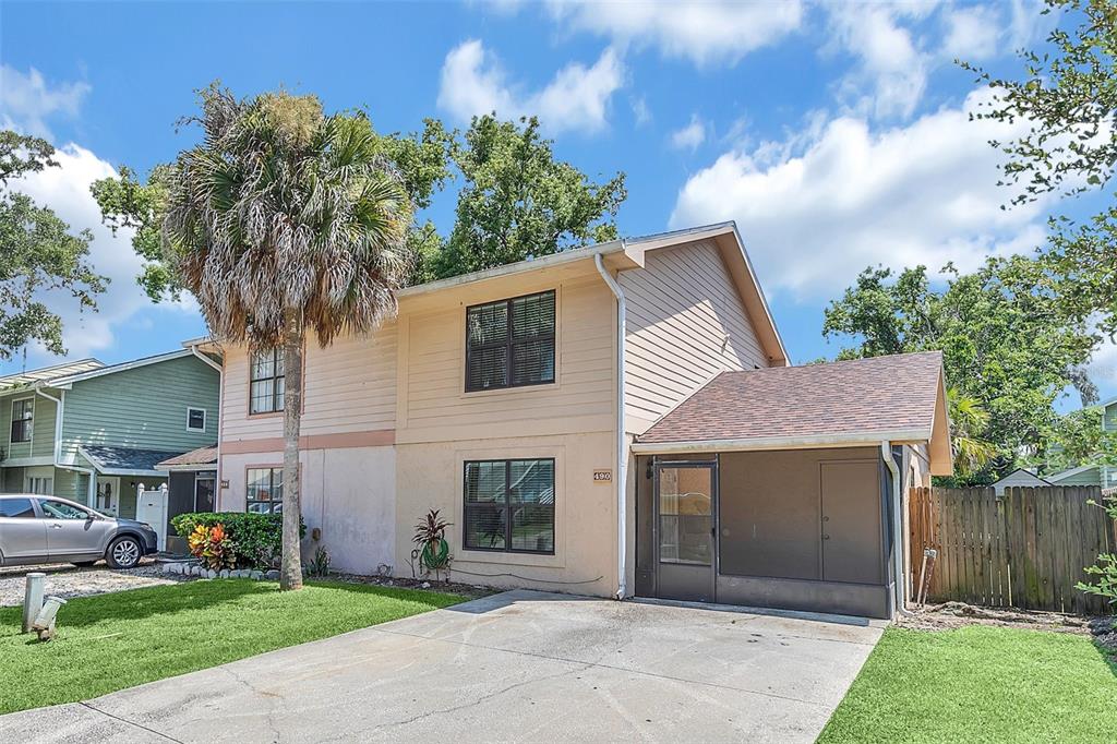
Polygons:
[[[410,575],[413,526],[428,509],[437,508],[454,523],[447,540],[454,555],[451,575],[458,581],[612,594],[617,589],[617,490],[611,484],[595,484],[593,470],[612,468],[613,447],[609,432],[398,446],[397,573]],[[466,551],[464,462],[534,457],[555,459],[555,554]]]

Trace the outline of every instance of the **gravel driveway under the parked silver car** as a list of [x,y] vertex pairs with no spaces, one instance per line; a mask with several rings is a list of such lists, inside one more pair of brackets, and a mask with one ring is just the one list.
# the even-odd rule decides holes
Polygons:
[[104,562],[87,569],[78,569],[68,563],[18,565],[0,569],[0,607],[16,607],[23,603],[25,576],[31,571],[47,574],[46,594],[65,599],[189,581],[187,576],[163,573],[159,564],[151,559],[142,560],[140,565],[131,571],[114,571]]

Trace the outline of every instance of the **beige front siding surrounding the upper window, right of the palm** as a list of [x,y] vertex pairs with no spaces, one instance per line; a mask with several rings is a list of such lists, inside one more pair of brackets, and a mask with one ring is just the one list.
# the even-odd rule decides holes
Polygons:
[[[465,305],[401,316],[397,441],[474,440],[612,428],[614,302],[600,277],[555,288],[554,384],[465,392]],[[478,302],[535,292],[524,288]]]

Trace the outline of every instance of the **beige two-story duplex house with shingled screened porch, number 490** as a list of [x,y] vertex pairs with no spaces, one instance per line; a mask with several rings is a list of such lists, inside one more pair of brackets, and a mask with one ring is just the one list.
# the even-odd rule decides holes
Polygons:
[[[461,581],[890,613],[901,489],[951,469],[941,359],[787,366],[733,223],[398,299],[306,349],[303,515],[336,567],[411,575],[437,508]],[[278,511],[281,357],[212,351],[218,508]]]

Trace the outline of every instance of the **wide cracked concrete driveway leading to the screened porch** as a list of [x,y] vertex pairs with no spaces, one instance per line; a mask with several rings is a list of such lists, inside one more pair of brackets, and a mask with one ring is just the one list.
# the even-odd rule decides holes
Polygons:
[[505,592],[2,716],[0,742],[811,742],[881,632],[833,620]]

